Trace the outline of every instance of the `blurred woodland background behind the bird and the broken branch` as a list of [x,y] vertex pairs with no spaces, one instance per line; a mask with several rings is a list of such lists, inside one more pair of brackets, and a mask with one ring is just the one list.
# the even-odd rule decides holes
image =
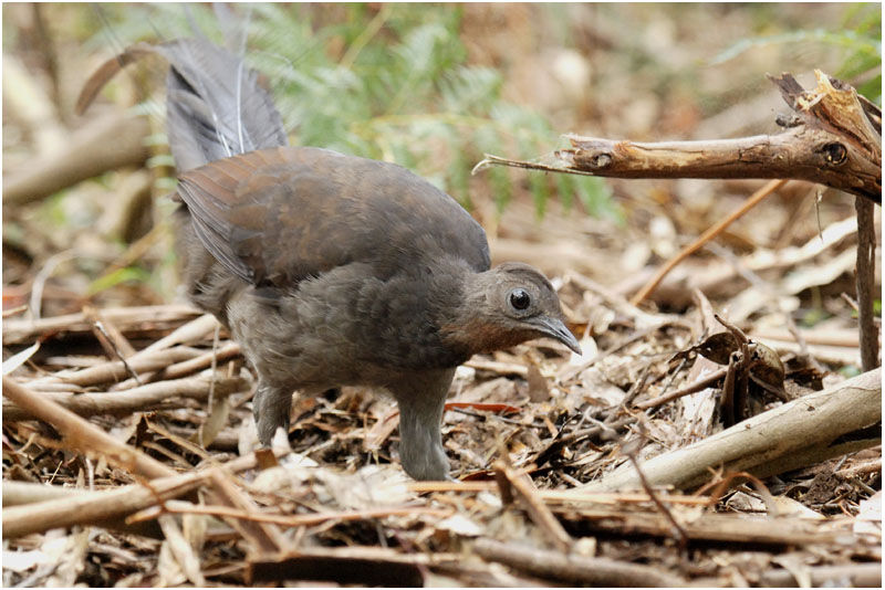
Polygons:
[[[766,75],[781,72],[813,87],[820,69],[881,104],[878,3],[6,3],[4,309],[27,305],[35,285],[44,316],[177,297],[165,63],[126,69],[84,116],[74,104],[127,45],[192,27],[242,48],[292,144],[406,166],[482,223],[493,262],[581,273],[625,295],[761,181],[471,175],[483,154],[537,158],[568,133],[778,133],[787,107]],[[851,214],[853,198],[790,182],[718,244],[736,254],[800,245]],[[842,280],[835,292],[851,287]],[[663,289],[653,303],[681,310],[683,295]],[[802,295],[800,319],[826,313],[820,295]]]

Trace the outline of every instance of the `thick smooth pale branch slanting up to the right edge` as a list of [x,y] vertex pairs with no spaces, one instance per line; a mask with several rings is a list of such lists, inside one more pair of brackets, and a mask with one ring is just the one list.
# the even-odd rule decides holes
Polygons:
[[[654,486],[687,489],[705,483],[710,470],[746,471],[768,477],[881,444],[882,370],[848,379],[646,461]],[[636,470],[625,464],[576,491],[638,488]]]

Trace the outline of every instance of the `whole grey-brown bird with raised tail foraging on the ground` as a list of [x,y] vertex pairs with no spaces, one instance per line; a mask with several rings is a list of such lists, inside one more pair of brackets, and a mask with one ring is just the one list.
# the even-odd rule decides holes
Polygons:
[[393,164],[288,147],[257,74],[205,38],[131,48],[81,109],[147,52],[170,63],[184,281],[258,373],[263,444],[288,430],[293,391],[368,386],[398,403],[406,472],[446,478],[439,429],[458,365],[544,336],[580,352],[550,282],[525,264],[490,270],[482,228],[451,197]]

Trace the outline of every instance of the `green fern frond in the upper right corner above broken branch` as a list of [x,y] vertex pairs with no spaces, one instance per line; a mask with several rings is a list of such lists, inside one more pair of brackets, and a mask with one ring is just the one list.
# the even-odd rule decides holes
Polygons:
[[810,43],[841,52],[842,66],[833,74],[852,83],[860,94],[882,105],[882,6],[853,4],[839,29],[791,31],[742,39],[714,57],[714,64],[732,60],[743,52],[768,44]]

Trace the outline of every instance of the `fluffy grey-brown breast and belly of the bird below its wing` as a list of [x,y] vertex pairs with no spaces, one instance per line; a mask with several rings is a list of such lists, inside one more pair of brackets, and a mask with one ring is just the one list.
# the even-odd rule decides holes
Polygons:
[[261,377],[293,389],[387,388],[465,360],[439,345],[407,284],[346,271],[303,281],[273,302],[250,289],[230,299],[230,329]]

